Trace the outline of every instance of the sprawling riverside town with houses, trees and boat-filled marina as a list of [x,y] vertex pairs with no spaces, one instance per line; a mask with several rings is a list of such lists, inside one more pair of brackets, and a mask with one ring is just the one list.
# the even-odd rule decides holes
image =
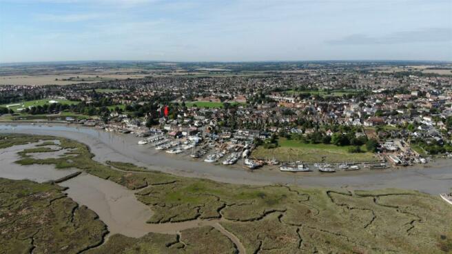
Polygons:
[[5,85],[0,119],[132,133],[137,145],[169,156],[251,170],[333,173],[452,157],[452,72],[399,65],[404,71],[338,62],[254,75],[218,68],[195,77]]

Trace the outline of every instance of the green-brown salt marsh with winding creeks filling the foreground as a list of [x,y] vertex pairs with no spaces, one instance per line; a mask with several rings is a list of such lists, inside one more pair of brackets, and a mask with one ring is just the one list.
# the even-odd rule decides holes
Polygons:
[[[149,223],[221,218],[218,223],[238,238],[247,253],[452,251],[450,205],[417,191],[225,184],[145,172],[122,162],[101,164],[92,159],[88,146],[48,136],[0,135],[0,148],[39,140],[50,144],[54,139],[59,139],[62,149],[72,150],[59,157],[34,159],[31,153],[48,150],[37,146],[19,152],[17,163],[79,168],[138,190],[137,199],[154,212]],[[285,144],[300,147],[290,141]],[[92,212],[86,208],[74,212],[74,202],[61,194],[61,188],[30,183],[0,180],[0,244],[6,253],[30,253],[33,247],[33,253],[59,253],[63,248],[65,253],[80,253],[83,246],[88,253],[237,253],[234,244],[210,226],[177,235],[112,235],[94,248],[104,231]]]

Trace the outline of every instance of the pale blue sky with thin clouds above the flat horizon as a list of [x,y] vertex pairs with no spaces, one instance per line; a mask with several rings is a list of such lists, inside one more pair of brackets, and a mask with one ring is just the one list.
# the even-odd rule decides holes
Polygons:
[[452,61],[452,0],[0,0],[0,62]]

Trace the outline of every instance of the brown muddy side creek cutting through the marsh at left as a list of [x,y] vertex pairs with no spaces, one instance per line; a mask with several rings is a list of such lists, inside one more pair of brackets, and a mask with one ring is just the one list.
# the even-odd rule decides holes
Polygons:
[[[37,148],[38,143],[12,146],[0,149],[0,177],[8,179],[29,179],[34,182],[49,182],[61,179],[68,175],[79,172],[76,169],[56,169],[53,165],[33,164],[21,166],[14,163],[20,156],[18,152],[24,149]],[[40,158],[57,157],[54,152],[36,153]],[[94,175],[81,173],[66,181],[59,183],[59,186],[67,188],[65,193],[80,205],[88,206],[99,215],[110,231],[110,235],[120,233],[128,237],[142,237],[147,233],[179,234],[181,231],[200,226],[213,226],[218,231],[229,237],[229,239],[243,251],[243,246],[237,237],[226,231],[219,222],[221,219],[201,220],[195,219],[187,222],[149,224],[147,220],[153,215],[149,206],[136,199],[136,190],[129,190],[124,186],[114,182],[101,179]],[[242,252],[243,253],[243,252]]]

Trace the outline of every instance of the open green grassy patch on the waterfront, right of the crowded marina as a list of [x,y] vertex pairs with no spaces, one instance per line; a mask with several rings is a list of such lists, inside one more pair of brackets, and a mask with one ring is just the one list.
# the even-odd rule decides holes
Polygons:
[[[258,159],[275,157],[280,162],[371,162],[377,158],[373,153],[349,153],[350,146],[335,146],[332,144],[305,144],[294,139],[280,138],[279,146],[273,149],[265,149],[258,146],[251,153],[251,157]],[[361,147],[366,150],[365,146]]]

